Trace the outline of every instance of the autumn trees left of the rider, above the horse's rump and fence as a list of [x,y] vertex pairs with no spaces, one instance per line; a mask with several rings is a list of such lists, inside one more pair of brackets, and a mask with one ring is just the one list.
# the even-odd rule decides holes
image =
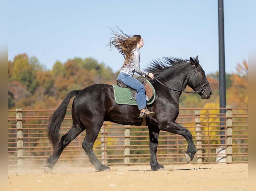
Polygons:
[[20,54],[9,61],[9,109],[55,109],[72,90],[92,84],[115,84],[117,74],[92,58],[56,61],[45,70],[35,57]]

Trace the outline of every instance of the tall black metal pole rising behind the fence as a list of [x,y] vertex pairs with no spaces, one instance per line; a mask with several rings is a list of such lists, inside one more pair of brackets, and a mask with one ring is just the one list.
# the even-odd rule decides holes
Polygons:
[[[226,107],[226,73],[225,73],[225,46],[224,46],[224,11],[223,11],[223,0],[218,0],[218,16],[219,16],[219,85],[220,85],[220,107]],[[221,144],[225,144],[225,109],[220,109],[220,134]]]

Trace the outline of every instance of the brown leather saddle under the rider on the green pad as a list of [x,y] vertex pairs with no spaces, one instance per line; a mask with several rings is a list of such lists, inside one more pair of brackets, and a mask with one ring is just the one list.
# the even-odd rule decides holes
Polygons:
[[[147,101],[150,100],[153,96],[153,90],[151,88],[151,86],[147,83],[147,81],[145,80],[144,77],[140,76],[138,78],[136,78],[138,81],[140,81],[140,83],[145,86],[145,90],[146,90],[146,99]],[[131,91],[131,97],[130,100],[134,99],[136,100],[136,95],[137,95],[137,91],[133,90],[132,88],[129,88],[128,86],[126,86],[124,83],[122,83],[120,80],[117,80],[117,86],[121,87],[121,88],[128,88]]]

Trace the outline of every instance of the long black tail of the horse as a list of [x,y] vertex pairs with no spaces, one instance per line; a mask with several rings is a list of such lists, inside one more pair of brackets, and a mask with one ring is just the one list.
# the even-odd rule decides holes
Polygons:
[[78,95],[79,90],[71,91],[65,99],[63,99],[62,103],[58,106],[58,108],[52,113],[50,118],[48,119],[48,129],[47,135],[53,146],[53,150],[56,151],[59,145],[59,128],[61,123],[66,115],[67,107],[69,105],[70,99]]

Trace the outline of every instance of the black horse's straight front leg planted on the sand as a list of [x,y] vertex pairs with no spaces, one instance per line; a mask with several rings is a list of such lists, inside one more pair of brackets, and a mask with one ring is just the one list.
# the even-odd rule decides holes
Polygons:
[[163,169],[164,166],[157,162],[156,151],[160,129],[157,127],[148,127],[149,130],[149,148],[150,148],[150,166],[153,171]]

